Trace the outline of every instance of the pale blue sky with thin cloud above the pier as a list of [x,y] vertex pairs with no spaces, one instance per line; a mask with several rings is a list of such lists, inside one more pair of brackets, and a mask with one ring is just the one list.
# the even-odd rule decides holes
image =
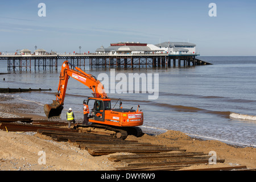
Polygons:
[[[46,5],[45,11],[42,6]],[[216,4],[217,16],[209,16]],[[191,42],[200,55],[256,55],[255,0],[3,0],[0,52],[95,52],[116,42]],[[40,13],[46,16],[39,16]],[[39,14],[38,14],[39,13]]]

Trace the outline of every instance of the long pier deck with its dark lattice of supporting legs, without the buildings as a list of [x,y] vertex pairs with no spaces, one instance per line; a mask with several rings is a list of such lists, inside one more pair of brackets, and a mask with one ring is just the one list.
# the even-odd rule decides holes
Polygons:
[[[0,55],[0,60],[7,60],[7,71],[57,71],[59,60],[68,60],[72,65],[84,68],[168,68],[207,65],[196,59],[194,54],[168,53],[84,53],[56,55]],[[62,62],[61,62],[62,63]]]

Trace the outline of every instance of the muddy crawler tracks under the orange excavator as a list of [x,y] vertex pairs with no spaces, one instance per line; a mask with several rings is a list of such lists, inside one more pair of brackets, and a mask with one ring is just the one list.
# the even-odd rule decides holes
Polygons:
[[92,132],[101,135],[109,135],[113,138],[126,139],[128,135],[135,135],[139,137],[142,134],[142,130],[139,127],[115,127],[109,125],[101,124],[91,124],[91,125],[77,125],[74,129],[78,129],[81,132]]

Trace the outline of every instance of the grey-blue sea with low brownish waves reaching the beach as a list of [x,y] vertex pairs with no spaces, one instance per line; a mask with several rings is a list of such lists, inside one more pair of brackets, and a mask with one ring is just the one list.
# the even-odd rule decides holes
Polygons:
[[[102,73],[109,76],[109,85],[114,85],[108,92],[112,107],[119,107],[119,98],[123,108],[137,110],[139,105],[139,110],[144,113],[144,122],[140,127],[147,133],[176,130],[195,138],[256,147],[256,56],[197,56],[197,59],[212,65],[90,69],[86,60],[82,69],[96,77],[102,76]],[[33,102],[42,107],[37,114],[44,115],[44,104],[51,104],[56,99],[63,61],[59,60],[57,71],[11,71],[10,74],[0,75],[0,88],[51,90],[1,94],[11,96],[17,102]],[[7,73],[7,60],[0,60],[0,73]],[[129,85],[128,77],[135,73],[152,76],[151,80],[158,78],[152,85],[146,83],[151,93],[142,92],[145,86],[143,81],[135,83],[142,86],[139,92],[135,89],[126,93],[115,90],[120,83],[117,75],[126,76]],[[106,83],[106,80],[102,81]],[[122,89],[126,88],[123,86]],[[149,99],[152,94],[157,97]],[[72,107],[76,118],[82,118],[82,102],[88,97],[92,97],[92,90],[70,77],[61,118],[65,119],[65,110],[69,107]]]

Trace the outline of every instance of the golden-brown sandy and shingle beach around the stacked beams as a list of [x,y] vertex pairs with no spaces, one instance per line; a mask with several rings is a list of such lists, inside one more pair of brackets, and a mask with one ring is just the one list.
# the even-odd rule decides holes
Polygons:
[[[11,104],[10,104],[11,103]],[[37,114],[42,106],[24,102],[14,102],[14,98],[0,97],[0,117],[31,117],[44,119]],[[43,107],[42,107],[43,109]],[[230,166],[256,168],[256,148],[232,146],[217,140],[191,138],[180,131],[167,131],[163,134],[144,134],[142,137],[128,136],[126,140],[138,140],[170,147],[180,147],[187,152],[215,151],[217,159],[224,163],[200,164],[183,169],[201,169]],[[34,132],[0,131],[0,170],[10,171],[110,171],[124,164],[110,162],[108,155],[91,156],[73,143],[55,142],[50,137]],[[46,154],[46,164],[39,164],[40,151]],[[110,154],[116,155],[116,154]]]

